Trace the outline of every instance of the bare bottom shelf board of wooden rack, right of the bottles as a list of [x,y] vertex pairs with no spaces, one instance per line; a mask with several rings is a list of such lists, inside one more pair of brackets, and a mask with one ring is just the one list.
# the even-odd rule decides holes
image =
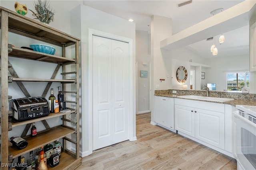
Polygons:
[[76,159],[65,152],[61,152],[60,163],[53,168],[50,167],[49,165],[47,167],[48,167],[48,170],[68,170],[68,169],[74,170],[78,166],[80,166],[81,163],[82,163],[81,157]]

